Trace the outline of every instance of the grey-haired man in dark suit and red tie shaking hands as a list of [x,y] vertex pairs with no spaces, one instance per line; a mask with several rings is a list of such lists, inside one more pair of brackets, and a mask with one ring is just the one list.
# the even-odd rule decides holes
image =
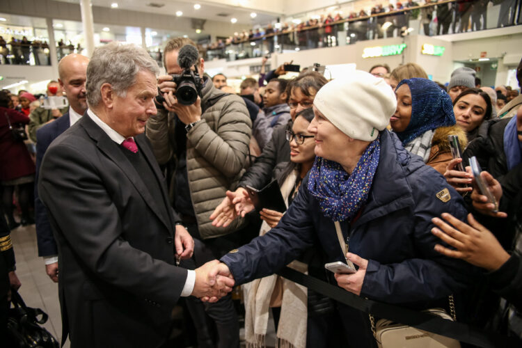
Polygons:
[[157,113],[157,63],[145,49],[98,47],[87,68],[84,117],[49,146],[38,191],[58,246],[63,337],[72,347],[157,347],[180,296],[230,292],[217,261],[176,267],[193,240],[168,204],[145,138]]

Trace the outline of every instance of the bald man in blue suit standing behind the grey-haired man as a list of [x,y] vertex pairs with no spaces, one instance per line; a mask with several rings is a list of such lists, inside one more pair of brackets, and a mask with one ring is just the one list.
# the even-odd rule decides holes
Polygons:
[[38,255],[45,260],[45,271],[58,282],[58,250],[47,212],[38,198],[38,173],[45,151],[49,145],[66,129],[74,125],[87,111],[86,72],[89,58],[81,54],[69,54],[58,63],[58,83],[69,101],[69,109],[63,116],[53,119],[36,131],[36,178],[35,178],[35,221],[38,240]]

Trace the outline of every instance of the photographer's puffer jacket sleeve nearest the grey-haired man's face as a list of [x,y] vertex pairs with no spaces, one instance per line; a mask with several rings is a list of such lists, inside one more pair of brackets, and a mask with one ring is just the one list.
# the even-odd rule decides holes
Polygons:
[[157,115],[149,118],[146,134],[158,163],[166,164],[173,155],[168,134],[168,111],[158,109]]

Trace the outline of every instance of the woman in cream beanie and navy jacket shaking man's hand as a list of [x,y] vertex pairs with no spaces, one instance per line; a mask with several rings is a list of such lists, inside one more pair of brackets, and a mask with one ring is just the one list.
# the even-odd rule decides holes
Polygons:
[[[310,246],[326,262],[355,264],[331,282],[377,301],[444,306],[473,281],[473,267],[436,253],[430,233],[442,212],[464,221],[463,200],[386,129],[395,106],[386,82],[363,71],[319,90],[313,167],[275,228],[221,258],[236,284],[274,274]],[[346,347],[376,347],[367,313],[338,302],[335,310]]]

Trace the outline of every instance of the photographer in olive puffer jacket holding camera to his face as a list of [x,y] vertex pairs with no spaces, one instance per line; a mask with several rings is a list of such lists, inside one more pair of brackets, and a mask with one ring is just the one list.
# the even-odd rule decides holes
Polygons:
[[[243,221],[217,228],[209,216],[244,173],[252,124],[242,98],[215,88],[203,75],[203,58],[187,45],[195,46],[187,38],[173,38],[164,49],[168,75],[158,79],[158,113],[148,120],[146,133],[159,164],[175,168],[168,177],[171,203],[194,239],[203,241],[196,243],[194,251],[198,267],[235,247],[229,235],[239,230]],[[185,54],[186,48],[196,53],[193,58]],[[190,93],[178,91],[175,81],[189,92],[191,88],[198,92],[195,102],[190,104]],[[187,306],[198,326],[199,346],[213,347],[203,329],[202,305],[187,301]],[[239,324],[230,294],[205,309],[216,322],[218,347],[239,347]]]

